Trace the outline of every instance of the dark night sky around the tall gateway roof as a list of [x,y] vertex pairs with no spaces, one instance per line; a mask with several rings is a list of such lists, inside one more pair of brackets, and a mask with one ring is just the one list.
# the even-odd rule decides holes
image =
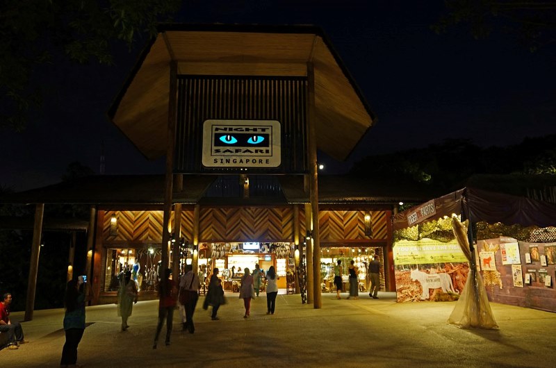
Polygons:
[[[502,147],[556,133],[555,46],[530,53],[513,37],[474,40],[464,27],[436,35],[430,25],[443,1],[368,2],[192,1],[175,20],[321,26],[378,118],[350,160],[328,172],[446,138]],[[42,110],[23,133],[0,131],[0,185],[57,183],[74,161],[99,172],[103,143],[106,174],[163,173],[163,160],[145,160],[106,117],[143,45],[131,54],[117,49],[113,67],[63,60],[40,67]]]

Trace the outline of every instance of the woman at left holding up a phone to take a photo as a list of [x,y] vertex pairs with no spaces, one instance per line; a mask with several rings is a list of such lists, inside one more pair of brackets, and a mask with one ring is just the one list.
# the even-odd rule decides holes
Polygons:
[[79,276],[78,280],[70,280],[66,284],[64,296],[64,331],[65,344],[62,349],[60,367],[82,367],[77,365],[77,346],[85,332],[85,302],[88,284]]

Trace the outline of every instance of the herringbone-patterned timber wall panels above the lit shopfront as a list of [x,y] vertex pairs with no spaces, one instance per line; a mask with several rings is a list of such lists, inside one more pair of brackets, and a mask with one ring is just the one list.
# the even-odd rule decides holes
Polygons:
[[[322,210],[319,212],[320,237],[323,242],[369,240],[365,235],[365,211]],[[110,219],[117,217],[117,235],[110,235]],[[373,211],[373,240],[388,237],[385,211]],[[106,211],[102,238],[111,242],[161,242],[162,211]],[[172,227],[173,227],[172,212]],[[199,242],[293,242],[293,207],[201,208]],[[305,214],[300,210],[300,233],[305,233]],[[193,242],[193,208],[181,212],[181,234]]]

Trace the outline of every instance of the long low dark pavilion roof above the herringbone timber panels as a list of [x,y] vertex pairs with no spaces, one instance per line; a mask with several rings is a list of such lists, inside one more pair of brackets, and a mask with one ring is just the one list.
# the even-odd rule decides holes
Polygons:
[[[272,206],[309,203],[303,190],[302,176],[279,176],[283,196],[277,198],[208,198],[204,194],[218,176],[184,175],[183,190],[174,192],[172,203],[218,203],[222,206]],[[73,203],[120,208],[162,206],[164,175],[97,175],[48,185],[33,190],[4,194],[0,203]],[[319,203],[322,204],[394,204],[434,198],[434,194],[415,185],[352,176],[320,176]]]

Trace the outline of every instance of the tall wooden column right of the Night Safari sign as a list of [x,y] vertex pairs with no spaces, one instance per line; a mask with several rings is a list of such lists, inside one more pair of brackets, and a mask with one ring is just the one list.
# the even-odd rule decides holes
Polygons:
[[311,198],[311,217],[313,219],[313,308],[322,308],[320,287],[320,233],[318,230],[318,162],[317,162],[317,138],[316,138],[316,119],[315,119],[315,70],[312,62],[307,62],[307,124],[309,125],[309,178],[310,178],[310,198]]

